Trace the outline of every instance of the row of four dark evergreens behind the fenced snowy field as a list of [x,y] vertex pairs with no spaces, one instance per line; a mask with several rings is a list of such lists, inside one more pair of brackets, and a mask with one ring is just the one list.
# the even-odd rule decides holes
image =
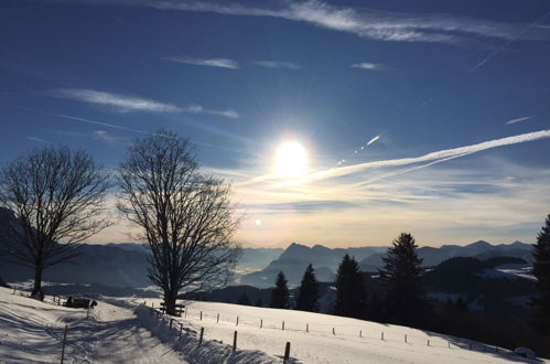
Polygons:
[[[338,266],[334,287],[336,299],[333,313],[357,319],[378,319],[393,323],[413,324],[414,318],[429,309],[422,287],[422,259],[417,255],[411,234],[402,233],[393,240],[384,258],[385,267],[378,280],[384,297],[367,296],[364,274],[354,257],[345,255]],[[271,308],[290,308],[290,291],[284,274],[277,275],[271,290]],[[319,311],[320,288],[315,271],[310,264],[296,291],[294,309]]]

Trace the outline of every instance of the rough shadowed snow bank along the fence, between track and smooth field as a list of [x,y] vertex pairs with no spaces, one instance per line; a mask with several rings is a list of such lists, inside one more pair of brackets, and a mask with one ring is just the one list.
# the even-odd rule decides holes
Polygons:
[[143,304],[140,304],[136,309],[136,313],[144,328],[149,329],[164,344],[172,346],[175,351],[185,353],[185,360],[190,363],[270,364],[281,362],[280,358],[257,350],[237,350],[233,353],[233,343],[231,345],[227,345],[215,340],[204,340],[198,344],[197,332],[188,328],[183,328],[175,320],[172,328],[170,328],[170,319],[166,319],[164,315],[158,318],[157,311]]

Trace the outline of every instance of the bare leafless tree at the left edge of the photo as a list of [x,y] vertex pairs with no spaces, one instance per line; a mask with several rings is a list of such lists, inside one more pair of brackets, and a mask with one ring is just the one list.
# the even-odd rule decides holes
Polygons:
[[33,295],[44,269],[77,257],[76,247],[109,223],[101,218],[108,175],[85,151],[47,147],[0,171],[4,259],[34,269]]

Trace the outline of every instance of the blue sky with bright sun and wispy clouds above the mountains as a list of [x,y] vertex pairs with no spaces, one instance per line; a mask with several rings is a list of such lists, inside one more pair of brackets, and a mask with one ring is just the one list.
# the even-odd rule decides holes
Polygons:
[[[533,243],[550,213],[550,3],[4,0],[0,163],[116,170],[190,138],[244,246]],[[129,242],[116,224],[89,243]]]

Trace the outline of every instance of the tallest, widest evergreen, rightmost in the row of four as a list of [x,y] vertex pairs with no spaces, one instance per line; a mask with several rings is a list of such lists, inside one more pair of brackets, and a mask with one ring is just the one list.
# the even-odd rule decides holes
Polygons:
[[414,324],[428,309],[422,259],[418,257],[417,248],[412,235],[401,233],[384,258],[385,267],[379,274],[386,291],[386,320],[390,322]]

